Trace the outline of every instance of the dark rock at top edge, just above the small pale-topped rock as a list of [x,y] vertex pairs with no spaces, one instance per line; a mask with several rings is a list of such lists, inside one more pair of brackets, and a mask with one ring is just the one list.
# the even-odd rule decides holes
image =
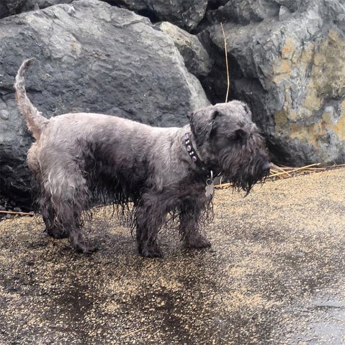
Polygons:
[[153,22],[168,21],[188,31],[205,15],[208,0],[107,0],[149,17]]

